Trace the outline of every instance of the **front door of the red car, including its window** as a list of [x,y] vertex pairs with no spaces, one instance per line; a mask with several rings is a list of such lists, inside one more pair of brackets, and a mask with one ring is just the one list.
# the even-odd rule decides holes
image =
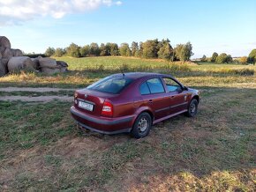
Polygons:
[[172,78],[162,78],[169,95],[169,114],[177,114],[187,107],[187,95],[183,87]]

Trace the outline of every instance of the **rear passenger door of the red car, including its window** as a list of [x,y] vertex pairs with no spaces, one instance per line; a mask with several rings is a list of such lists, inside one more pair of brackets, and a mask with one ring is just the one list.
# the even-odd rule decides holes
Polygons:
[[139,86],[144,104],[154,111],[154,120],[169,115],[169,95],[160,78],[150,78]]

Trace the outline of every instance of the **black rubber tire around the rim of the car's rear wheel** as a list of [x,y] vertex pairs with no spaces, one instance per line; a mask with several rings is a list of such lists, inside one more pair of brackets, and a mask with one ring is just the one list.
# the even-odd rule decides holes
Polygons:
[[[140,133],[139,129],[138,129],[138,124],[139,124],[140,119],[143,117],[147,118],[148,125],[147,125],[147,129],[145,131],[143,131],[142,133]],[[151,118],[150,114],[147,114],[147,113],[139,114],[139,116],[137,117],[137,119],[134,122],[133,127],[132,127],[133,137],[135,137],[135,138],[146,137],[149,133],[151,125],[152,125],[152,118]]]

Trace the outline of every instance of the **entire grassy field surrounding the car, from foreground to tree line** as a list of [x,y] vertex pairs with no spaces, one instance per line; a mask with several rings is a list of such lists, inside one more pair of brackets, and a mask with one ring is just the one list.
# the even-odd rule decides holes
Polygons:
[[[70,64],[65,74],[10,75],[0,78],[0,87],[75,89],[113,72],[165,72],[200,90],[199,114],[178,115],[156,124],[148,137],[134,139],[76,129],[72,102],[0,100],[1,191],[256,190],[256,66],[61,59]],[[72,91],[0,92],[61,94]]]

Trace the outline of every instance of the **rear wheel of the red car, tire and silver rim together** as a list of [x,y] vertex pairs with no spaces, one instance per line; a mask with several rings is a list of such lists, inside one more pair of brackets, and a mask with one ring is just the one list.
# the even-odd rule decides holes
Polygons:
[[146,137],[152,125],[150,114],[139,114],[132,127],[132,136],[135,138]]

